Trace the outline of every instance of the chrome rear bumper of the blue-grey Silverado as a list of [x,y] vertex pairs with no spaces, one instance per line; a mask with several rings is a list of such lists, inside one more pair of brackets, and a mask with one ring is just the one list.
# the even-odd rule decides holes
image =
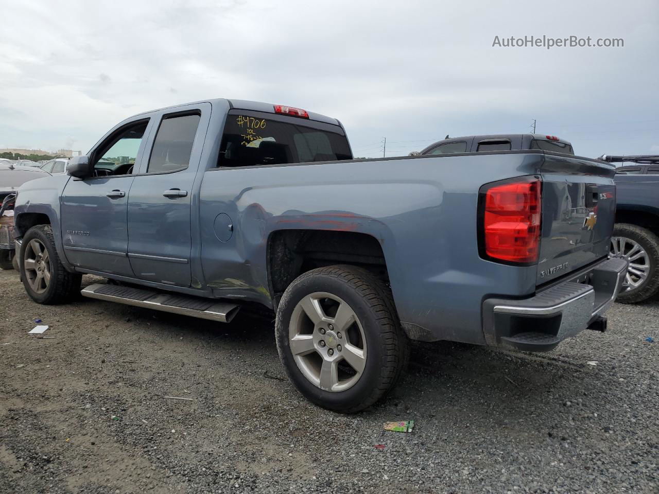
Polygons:
[[616,300],[626,272],[627,261],[602,260],[531,298],[484,300],[487,344],[546,352],[587,327],[602,331],[602,315]]

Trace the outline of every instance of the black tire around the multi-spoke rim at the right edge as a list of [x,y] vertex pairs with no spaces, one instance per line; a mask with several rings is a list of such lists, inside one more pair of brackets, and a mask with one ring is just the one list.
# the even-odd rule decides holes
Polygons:
[[659,292],[659,237],[643,227],[637,227],[629,223],[616,223],[613,236],[622,236],[637,242],[647,252],[648,264],[650,265],[648,277],[645,281],[636,288],[620,292],[616,302],[635,304],[656,295]]

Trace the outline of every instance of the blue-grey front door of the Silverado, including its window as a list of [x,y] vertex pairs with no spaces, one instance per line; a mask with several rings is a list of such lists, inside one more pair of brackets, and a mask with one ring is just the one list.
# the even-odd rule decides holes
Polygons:
[[61,226],[65,256],[72,265],[134,276],[128,258],[127,205],[148,128],[148,119],[117,128],[90,153],[94,175],[69,178],[61,198]]

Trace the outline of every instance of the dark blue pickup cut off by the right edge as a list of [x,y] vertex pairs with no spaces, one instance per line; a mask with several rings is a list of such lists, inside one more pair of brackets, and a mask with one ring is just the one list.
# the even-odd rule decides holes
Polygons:
[[629,261],[618,301],[643,302],[659,292],[659,155],[600,159],[629,163],[616,168],[616,226],[610,255]]

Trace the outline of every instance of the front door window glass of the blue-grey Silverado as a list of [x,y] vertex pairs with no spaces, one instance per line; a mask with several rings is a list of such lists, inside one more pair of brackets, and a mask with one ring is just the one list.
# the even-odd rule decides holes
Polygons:
[[94,175],[129,175],[133,173],[135,159],[144,138],[148,121],[129,124],[119,129],[94,151]]

